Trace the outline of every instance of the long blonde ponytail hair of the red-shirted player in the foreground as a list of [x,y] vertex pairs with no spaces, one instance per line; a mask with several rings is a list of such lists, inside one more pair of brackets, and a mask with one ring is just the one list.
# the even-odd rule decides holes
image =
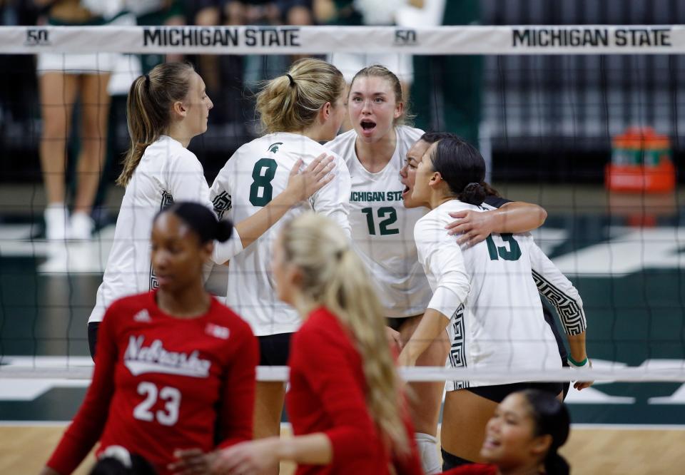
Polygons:
[[329,218],[304,213],[285,223],[285,261],[303,274],[301,290],[309,307],[323,305],[352,334],[367,383],[366,403],[382,436],[396,454],[409,450],[402,422],[400,379],[385,337],[382,306],[367,270]]

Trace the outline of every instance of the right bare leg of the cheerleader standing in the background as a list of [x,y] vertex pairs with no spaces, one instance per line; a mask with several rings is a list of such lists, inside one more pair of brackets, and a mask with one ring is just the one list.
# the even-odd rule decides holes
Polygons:
[[91,212],[98,191],[107,150],[107,118],[110,97],[107,92],[109,74],[81,76],[83,127],[81,154],[78,156],[78,187],[75,213]]

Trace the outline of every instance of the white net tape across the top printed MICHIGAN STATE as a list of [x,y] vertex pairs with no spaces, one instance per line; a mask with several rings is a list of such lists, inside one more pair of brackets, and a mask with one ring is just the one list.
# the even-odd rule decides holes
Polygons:
[[[372,39],[372,41],[370,41]],[[0,53],[681,54],[685,26],[5,26]]]

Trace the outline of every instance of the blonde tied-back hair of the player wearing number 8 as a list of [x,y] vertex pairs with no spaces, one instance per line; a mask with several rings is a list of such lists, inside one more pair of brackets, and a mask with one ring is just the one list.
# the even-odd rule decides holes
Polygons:
[[266,83],[257,94],[257,111],[267,133],[302,131],[313,125],[325,103],[335,106],[343,93],[345,78],[338,68],[302,58],[288,73]]

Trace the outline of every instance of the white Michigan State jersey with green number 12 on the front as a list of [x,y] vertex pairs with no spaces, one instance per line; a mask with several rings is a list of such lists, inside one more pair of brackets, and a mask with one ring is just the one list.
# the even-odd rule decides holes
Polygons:
[[414,225],[426,210],[405,208],[405,187],[400,181],[407,151],[423,131],[398,126],[395,133],[395,153],[377,173],[371,173],[357,158],[354,130],[340,134],[326,147],[342,156],[350,169],[350,225],[355,249],[377,285],[385,316],[402,318],[425,312],[431,291],[412,241]]

